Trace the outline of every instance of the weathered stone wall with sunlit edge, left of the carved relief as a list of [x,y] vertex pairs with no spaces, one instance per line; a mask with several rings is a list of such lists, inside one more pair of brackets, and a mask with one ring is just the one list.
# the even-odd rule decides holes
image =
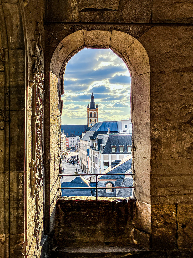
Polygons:
[[[33,257],[37,249],[37,239],[39,243],[42,239],[43,187],[38,193],[38,206],[37,198],[32,198],[31,193],[33,184],[30,167],[34,149],[34,123],[33,86],[29,81],[33,80],[34,60],[37,60],[34,47],[38,44],[44,46],[44,10],[43,1],[2,1],[0,5],[0,257],[23,257],[23,254]],[[39,35],[42,38],[37,43]],[[43,56],[40,55],[43,62]],[[43,63],[41,71],[43,73]],[[37,222],[40,222],[39,227],[35,226]],[[36,239],[34,232],[37,228]]]

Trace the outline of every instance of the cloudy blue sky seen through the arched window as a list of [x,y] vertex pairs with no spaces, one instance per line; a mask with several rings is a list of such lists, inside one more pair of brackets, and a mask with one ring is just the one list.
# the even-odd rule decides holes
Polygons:
[[98,104],[98,122],[130,117],[130,74],[110,49],[86,49],[67,63],[64,74],[62,124],[87,124],[91,94]]

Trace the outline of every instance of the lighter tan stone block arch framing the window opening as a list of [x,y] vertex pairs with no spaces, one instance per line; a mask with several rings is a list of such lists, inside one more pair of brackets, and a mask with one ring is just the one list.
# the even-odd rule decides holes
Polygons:
[[[150,215],[150,65],[146,50],[129,34],[113,30],[78,30],[65,37],[52,55],[49,70],[49,103],[45,124],[56,123],[62,114],[63,76],[68,60],[84,47],[110,48],[126,63],[131,74],[131,119],[133,122],[133,168],[136,227],[151,233]],[[48,80],[47,80],[48,81]],[[59,95],[59,102],[58,102]],[[56,109],[57,107],[57,109]],[[49,116],[46,114],[49,110]],[[54,122],[53,122],[54,121]],[[60,135],[50,129],[49,146],[55,146]],[[46,144],[45,144],[46,146]],[[50,150],[52,155],[56,150]],[[46,150],[45,150],[46,153]],[[50,166],[51,169],[51,166]],[[51,185],[50,185],[51,188]],[[51,194],[51,193],[50,193]],[[50,198],[51,200],[52,198]],[[143,212],[142,212],[143,210]],[[51,214],[52,211],[50,211]],[[138,219],[140,217],[140,220]]]

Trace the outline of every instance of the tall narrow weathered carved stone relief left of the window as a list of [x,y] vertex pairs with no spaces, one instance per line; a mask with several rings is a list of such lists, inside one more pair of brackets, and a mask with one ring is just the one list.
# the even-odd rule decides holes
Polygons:
[[29,86],[32,87],[32,148],[30,163],[30,186],[31,197],[35,198],[36,212],[34,216],[34,236],[36,238],[37,249],[39,249],[39,232],[40,232],[40,211],[39,200],[40,190],[43,186],[43,163],[42,163],[42,120],[43,120],[43,93],[45,92],[44,74],[43,74],[43,49],[41,46],[41,34],[38,30],[38,24],[35,31],[33,45],[33,67],[32,80]]

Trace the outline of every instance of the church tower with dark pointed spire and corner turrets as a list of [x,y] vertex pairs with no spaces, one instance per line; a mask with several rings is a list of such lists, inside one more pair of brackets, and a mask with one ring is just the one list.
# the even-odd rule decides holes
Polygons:
[[98,123],[98,112],[99,112],[98,104],[96,105],[96,108],[95,108],[94,95],[93,95],[93,92],[92,92],[90,108],[89,108],[89,104],[87,106],[87,124],[88,124],[88,127],[89,126],[92,127],[95,123]]

